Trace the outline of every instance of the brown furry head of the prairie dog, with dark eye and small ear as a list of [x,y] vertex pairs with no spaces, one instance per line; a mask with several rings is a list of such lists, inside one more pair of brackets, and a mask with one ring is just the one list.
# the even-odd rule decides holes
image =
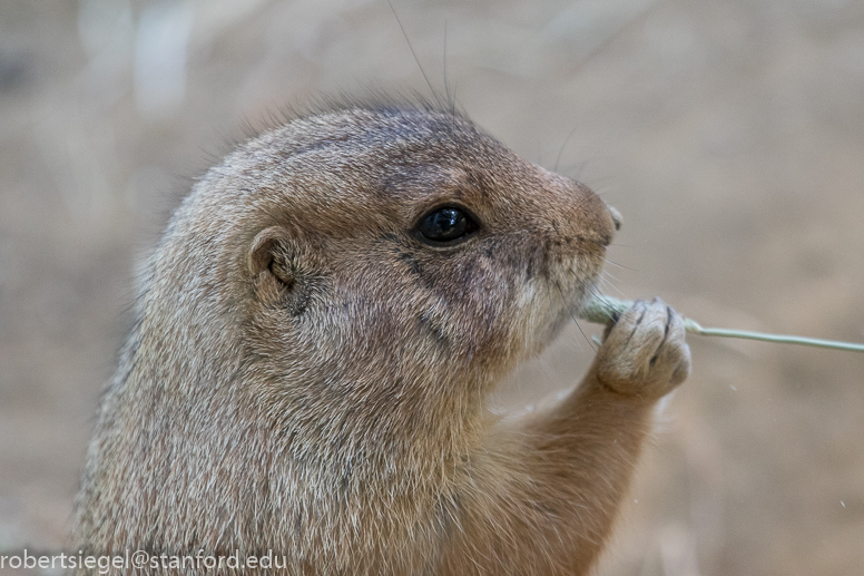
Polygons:
[[483,387],[570,318],[616,226],[463,117],[352,108],[214,167],[171,221],[150,304],[218,319],[187,338],[247,346],[271,383]]

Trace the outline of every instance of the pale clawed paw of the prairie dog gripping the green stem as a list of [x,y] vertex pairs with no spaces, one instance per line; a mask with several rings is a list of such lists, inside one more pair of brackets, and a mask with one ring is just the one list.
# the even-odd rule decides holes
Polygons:
[[684,319],[660,299],[636,301],[607,330],[596,367],[600,384],[620,394],[667,394],[690,373]]

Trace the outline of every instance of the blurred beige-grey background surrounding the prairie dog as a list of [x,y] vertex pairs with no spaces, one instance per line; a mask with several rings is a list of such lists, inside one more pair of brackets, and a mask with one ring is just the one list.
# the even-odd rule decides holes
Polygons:
[[[610,294],[864,341],[864,2],[392,1],[419,64],[384,0],[0,3],[0,551],[66,544],[136,273],[192,177],[288,105],[429,94],[419,65],[621,211]],[[861,574],[864,357],[690,345],[598,573]],[[591,353],[571,326],[497,402]]]

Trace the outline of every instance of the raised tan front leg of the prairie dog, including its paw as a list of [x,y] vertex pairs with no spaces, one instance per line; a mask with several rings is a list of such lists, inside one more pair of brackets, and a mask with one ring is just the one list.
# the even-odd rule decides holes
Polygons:
[[656,401],[689,373],[681,318],[636,302],[552,411],[472,455],[445,574],[586,574],[608,539]]

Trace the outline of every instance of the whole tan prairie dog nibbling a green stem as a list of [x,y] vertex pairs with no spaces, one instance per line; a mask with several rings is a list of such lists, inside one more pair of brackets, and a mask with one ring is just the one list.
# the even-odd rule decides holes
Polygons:
[[451,110],[345,106],[238,146],[150,260],[77,544],[272,550],[283,574],[587,573],[688,374],[680,316],[637,302],[543,413],[485,399],[570,321],[619,221]]

